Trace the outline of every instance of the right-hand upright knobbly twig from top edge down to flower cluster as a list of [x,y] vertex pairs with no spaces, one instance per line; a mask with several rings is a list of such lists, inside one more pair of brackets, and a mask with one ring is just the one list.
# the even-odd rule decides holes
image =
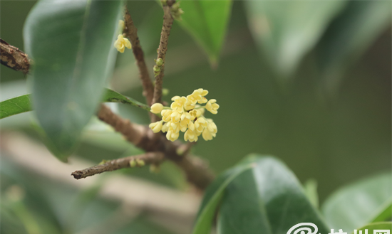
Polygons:
[[158,58],[162,58],[163,65],[160,67],[160,73],[155,78],[155,89],[153,103],[162,102],[162,83],[165,72],[165,56],[167,51],[167,43],[169,43],[170,30],[172,29],[173,18],[170,13],[170,7],[175,4],[175,0],[167,0],[167,4],[163,5],[163,26],[160,33],[160,43],[158,48]]

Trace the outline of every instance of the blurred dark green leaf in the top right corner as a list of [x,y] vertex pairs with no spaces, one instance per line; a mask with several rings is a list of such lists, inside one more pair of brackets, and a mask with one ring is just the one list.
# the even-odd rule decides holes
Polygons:
[[[339,76],[343,68],[359,58],[391,26],[391,18],[391,1],[349,1],[319,43],[319,66],[326,78]],[[331,85],[337,81],[331,81]]]

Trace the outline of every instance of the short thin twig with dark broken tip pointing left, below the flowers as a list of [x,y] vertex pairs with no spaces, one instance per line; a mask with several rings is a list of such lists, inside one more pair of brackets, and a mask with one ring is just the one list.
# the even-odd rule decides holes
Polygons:
[[101,174],[105,171],[115,171],[118,169],[132,167],[131,166],[132,162],[135,162],[135,166],[144,166],[144,165],[140,165],[140,162],[143,162],[143,164],[145,165],[160,164],[164,159],[165,156],[162,153],[150,152],[150,153],[140,154],[136,156],[128,156],[121,159],[114,159],[101,165],[92,166],[81,171],[74,171],[71,175],[75,179],[83,179],[88,176]]

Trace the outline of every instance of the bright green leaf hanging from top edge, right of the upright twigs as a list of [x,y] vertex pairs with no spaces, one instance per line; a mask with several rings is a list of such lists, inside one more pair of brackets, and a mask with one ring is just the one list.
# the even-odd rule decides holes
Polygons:
[[205,49],[215,67],[225,39],[232,0],[181,1],[180,7],[185,12],[180,25]]

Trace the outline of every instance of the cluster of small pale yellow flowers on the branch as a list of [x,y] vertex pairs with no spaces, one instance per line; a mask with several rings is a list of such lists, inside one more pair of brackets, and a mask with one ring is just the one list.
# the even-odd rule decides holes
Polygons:
[[[212,114],[217,114],[219,105],[215,99],[207,100],[205,98],[207,94],[207,90],[200,88],[187,97],[172,97],[170,107],[155,103],[150,111],[154,114],[160,113],[162,120],[150,124],[150,129],[155,133],[167,132],[166,138],[172,142],[178,139],[180,131],[185,132],[185,141],[197,142],[200,135],[206,141],[211,140],[217,134],[217,125],[212,119],[206,119],[204,113],[206,109]],[[200,105],[205,103],[205,106]]]

